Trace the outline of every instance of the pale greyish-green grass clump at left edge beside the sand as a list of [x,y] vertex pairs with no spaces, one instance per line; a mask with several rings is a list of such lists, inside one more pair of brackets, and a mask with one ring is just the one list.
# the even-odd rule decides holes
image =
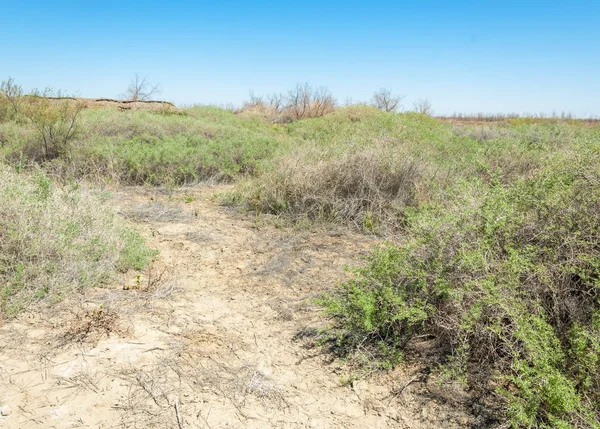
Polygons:
[[156,254],[105,198],[0,164],[0,316],[143,268]]

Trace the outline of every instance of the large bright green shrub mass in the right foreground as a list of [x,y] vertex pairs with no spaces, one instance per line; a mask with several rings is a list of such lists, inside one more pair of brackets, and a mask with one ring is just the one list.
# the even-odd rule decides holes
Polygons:
[[574,149],[408,210],[401,243],[325,300],[342,352],[386,361],[432,338],[440,370],[513,427],[599,427],[600,145]]

